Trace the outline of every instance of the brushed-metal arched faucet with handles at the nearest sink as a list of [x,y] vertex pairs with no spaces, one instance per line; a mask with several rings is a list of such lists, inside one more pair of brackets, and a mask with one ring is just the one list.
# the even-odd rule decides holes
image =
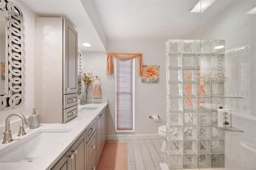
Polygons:
[[25,135],[26,132],[24,130],[24,125],[30,124],[30,122],[27,122],[26,118],[21,113],[12,113],[11,115],[9,115],[5,120],[5,131],[3,132],[4,139],[3,139],[3,142],[2,142],[3,144],[12,142],[12,140],[13,140],[11,130],[10,130],[10,119],[11,119],[12,116],[18,116],[22,120],[22,125],[20,125],[20,130],[19,130],[18,136]]

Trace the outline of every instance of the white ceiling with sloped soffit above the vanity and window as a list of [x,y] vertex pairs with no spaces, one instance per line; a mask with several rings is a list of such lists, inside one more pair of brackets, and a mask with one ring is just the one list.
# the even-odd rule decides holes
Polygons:
[[[67,18],[78,31],[80,51],[106,51],[107,40],[183,39],[200,28],[200,13],[188,9],[196,0],[22,0],[42,17]],[[201,23],[232,3],[216,0]],[[82,43],[91,43],[83,47]]]

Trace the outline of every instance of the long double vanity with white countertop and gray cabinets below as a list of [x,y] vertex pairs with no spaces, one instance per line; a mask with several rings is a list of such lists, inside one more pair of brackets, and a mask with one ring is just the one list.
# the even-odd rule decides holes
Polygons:
[[[78,106],[78,116],[65,124],[25,128],[0,144],[1,170],[96,169],[107,137],[108,103]],[[12,130],[12,129],[11,129]]]

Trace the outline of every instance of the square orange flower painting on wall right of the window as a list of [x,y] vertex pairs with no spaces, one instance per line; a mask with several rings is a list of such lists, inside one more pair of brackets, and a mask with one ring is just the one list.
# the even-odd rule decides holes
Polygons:
[[159,82],[159,65],[143,65],[142,83]]

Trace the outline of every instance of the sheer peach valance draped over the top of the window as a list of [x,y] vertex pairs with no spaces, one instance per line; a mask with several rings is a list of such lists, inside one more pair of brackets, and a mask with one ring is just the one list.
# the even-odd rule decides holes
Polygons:
[[136,57],[139,58],[139,76],[142,77],[142,54],[141,53],[108,53],[107,64],[106,64],[106,74],[112,75],[114,73],[113,57],[119,61],[128,61]]

